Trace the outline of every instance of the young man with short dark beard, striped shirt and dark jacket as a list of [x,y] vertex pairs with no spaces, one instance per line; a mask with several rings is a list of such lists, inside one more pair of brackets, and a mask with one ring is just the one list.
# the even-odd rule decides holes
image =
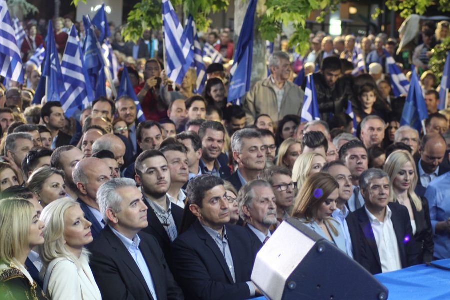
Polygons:
[[167,160],[157,150],[143,151],[136,159],[136,182],[141,185],[148,207],[148,226],[142,231],[153,235],[169,264],[172,261],[171,243],[178,236],[183,209],[170,202],[170,171]]

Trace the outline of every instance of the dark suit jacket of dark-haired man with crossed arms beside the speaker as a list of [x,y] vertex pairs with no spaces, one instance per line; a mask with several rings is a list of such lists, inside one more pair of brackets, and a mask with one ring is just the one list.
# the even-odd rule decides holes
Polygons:
[[235,225],[226,225],[233,257],[236,283],[225,257],[215,241],[197,220],[172,244],[173,275],[186,299],[248,299],[251,270],[257,252],[248,232]]

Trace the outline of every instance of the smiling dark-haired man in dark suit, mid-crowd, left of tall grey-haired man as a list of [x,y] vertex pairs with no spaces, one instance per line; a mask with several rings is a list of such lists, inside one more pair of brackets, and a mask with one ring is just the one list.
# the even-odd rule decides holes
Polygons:
[[222,179],[228,178],[231,175],[228,163],[226,159],[221,159],[225,155],[222,153],[225,144],[225,127],[220,122],[205,121],[200,125],[198,135],[203,150],[199,162],[201,173]]

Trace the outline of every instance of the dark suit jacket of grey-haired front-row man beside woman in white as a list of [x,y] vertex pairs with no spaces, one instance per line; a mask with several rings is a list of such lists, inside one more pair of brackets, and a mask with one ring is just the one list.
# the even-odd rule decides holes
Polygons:
[[[159,299],[183,299],[157,240],[139,233],[142,252]],[[89,246],[90,267],[103,299],[153,299],[142,273],[122,241],[109,226]]]

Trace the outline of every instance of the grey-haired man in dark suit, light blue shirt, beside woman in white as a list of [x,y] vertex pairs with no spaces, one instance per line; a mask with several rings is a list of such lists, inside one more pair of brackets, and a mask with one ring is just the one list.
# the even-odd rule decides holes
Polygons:
[[108,225],[89,249],[102,298],[183,299],[157,240],[139,233],[148,226],[147,206],[134,180],[112,179],[97,200]]

